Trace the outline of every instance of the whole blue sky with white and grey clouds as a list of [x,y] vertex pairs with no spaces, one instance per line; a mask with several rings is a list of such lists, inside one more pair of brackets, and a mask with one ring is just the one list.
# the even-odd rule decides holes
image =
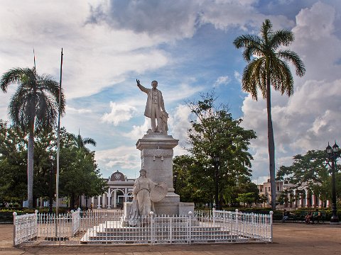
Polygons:
[[[251,143],[253,180],[267,178],[266,104],[241,89],[242,51],[232,44],[242,34],[258,33],[269,18],[274,30],[295,34],[290,49],[301,56],[304,77],[295,77],[288,98],[273,92],[276,167],[295,154],[341,144],[340,0],[173,0],[173,1],[19,1],[0,8],[0,74],[12,67],[33,67],[59,81],[63,47],[63,89],[67,108],[62,125],[97,141],[102,175],[122,171],[134,178],[141,166],[136,141],[148,130],[146,94],[158,81],[169,134],[183,154],[190,111],[186,101],[215,90],[234,118],[256,131]],[[295,75],[295,72],[293,72]],[[0,118],[16,86],[1,92]]]

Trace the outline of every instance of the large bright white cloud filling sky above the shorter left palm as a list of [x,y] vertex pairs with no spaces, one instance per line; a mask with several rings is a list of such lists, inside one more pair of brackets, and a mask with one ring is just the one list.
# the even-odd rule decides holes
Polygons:
[[[141,73],[168,62],[166,52],[154,47],[159,40],[105,24],[86,24],[89,2],[65,1],[67,8],[60,2],[10,1],[0,9],[2,48],[16,49],[1,50],[1,72],[32,67],[35,47],[38,73],[53,74],[59,81],[63,47],[63,89],[70,99],[124,81],[127,72]],[[31,6],[35,7],[27,11]]]

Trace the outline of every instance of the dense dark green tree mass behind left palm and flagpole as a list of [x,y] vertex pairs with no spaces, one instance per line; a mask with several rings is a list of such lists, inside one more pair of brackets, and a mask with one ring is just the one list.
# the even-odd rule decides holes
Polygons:
[[[94,152],[78,147],[82,139],[61,129],[60,142],[60,195],[70,198],[70,207],[80,195],[97,196],[104,192],[106,183],[99,174]],[[49,155],[55,154],[55,132],[36,134],[34,147],[34,198],[49,196]],[[0,203],[18,202],[26,198],[27,137],[22,137],[13,126],[0,120]],[[55,164],[53,168],[55,172]],[[52,183],[55,191],[55,181]]]

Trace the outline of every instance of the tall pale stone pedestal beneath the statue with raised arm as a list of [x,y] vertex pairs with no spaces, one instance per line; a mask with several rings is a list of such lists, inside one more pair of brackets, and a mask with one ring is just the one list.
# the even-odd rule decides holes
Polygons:
[[[180,211],[185,212],[187,209],[194,211],[194,203],[180,203],[180,196],[174,193],[173,148],[178,145],[178,141],[171,135],[148,130],[147,135],[136,142],[136,148],[141,151],[141,166],[146,170],[147,177],[168,186],[166,197],[154,203],[156,215],[179,215]],[[180,211],[179,206],[182,208]]]

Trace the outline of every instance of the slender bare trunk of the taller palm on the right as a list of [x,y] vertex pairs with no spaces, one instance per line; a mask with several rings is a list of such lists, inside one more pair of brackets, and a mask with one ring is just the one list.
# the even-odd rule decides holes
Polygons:
[[271,118],[271,89],[270,77],[266,79],[266,110],[268,113],[268,148],[269,148],[269,172],[271,185],[271,210],[276,210],[276,179],[275,179],[275,142],[274,129]]

